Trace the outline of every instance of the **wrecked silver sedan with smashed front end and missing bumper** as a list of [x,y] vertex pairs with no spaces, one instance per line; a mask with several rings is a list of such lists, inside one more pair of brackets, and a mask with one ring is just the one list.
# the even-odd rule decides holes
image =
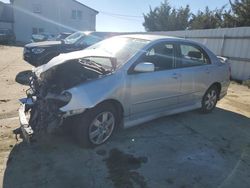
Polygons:
[[211,112],[229,78],[229,65],[201,44],[158,35],[113,37],[36,68],[30,100],[19,110],[21,127],[30,136],[73,119],[80,144],[96,146],[118,126],[194,109]]

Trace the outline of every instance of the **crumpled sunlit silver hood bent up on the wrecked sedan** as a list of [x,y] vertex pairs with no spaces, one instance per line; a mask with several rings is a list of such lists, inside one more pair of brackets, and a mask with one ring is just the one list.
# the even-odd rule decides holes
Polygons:
[[81,50],[81,51],[75,51],[71,53],[65,53],[60,54],[53,59],[51,59],[47,64],[44,64],[42,66],[39,66],[37,68],[33,69],[33,72],[39,77],[41,73],[49,70],[50,68],[53,68],[57,65],[63,64],[69,60],[73,59],[80,59],[84,57],[107,57],[107,58],[114,58],[111,56],[110,53],[107,53],[105,51],[96,50],[96,49],[90,49],[90,50]]

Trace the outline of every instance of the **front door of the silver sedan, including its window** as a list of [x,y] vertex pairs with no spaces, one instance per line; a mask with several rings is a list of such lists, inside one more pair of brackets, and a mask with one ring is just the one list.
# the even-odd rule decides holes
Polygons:
[[[175,45],[160,42],[149,48],[132,65],[128,83],[130,89],[130,117],[152,115],[174,108],[180,94],[180,76],[175,66]],[[141,62],[155,65],[155,71],[133,72],[133,67]]]

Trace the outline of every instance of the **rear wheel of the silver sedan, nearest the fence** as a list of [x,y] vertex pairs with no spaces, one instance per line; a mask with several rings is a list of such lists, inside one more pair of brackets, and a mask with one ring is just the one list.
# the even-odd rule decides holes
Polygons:
[[218,102],[218,88],[216,86],[211,86],[202,98],[201,111],[203,113],[210,113],[216,107]]

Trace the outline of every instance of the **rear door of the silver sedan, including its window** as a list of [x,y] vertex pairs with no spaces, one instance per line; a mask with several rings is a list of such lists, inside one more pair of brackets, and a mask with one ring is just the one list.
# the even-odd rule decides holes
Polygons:
[[198,45],[179,43],[177,45],[177,68],[181,76],[180,105],[200,102],[209,87],[211,61],[207,53]]

